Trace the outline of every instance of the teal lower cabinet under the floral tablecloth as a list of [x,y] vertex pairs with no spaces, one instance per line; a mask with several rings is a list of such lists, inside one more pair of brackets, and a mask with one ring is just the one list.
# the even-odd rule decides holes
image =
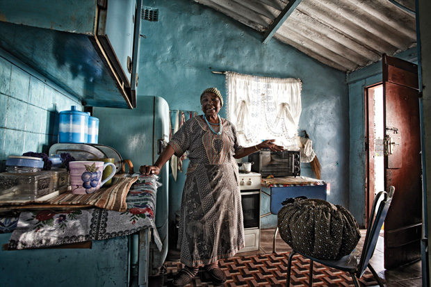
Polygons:
[[[6,245],[10,233],[0,233]],[[0,250],[1,286],[148,286],[150,232],[58,247]]]

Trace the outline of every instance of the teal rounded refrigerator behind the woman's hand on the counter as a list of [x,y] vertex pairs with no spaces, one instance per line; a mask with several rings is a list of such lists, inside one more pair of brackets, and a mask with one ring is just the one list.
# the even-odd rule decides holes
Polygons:
[[[136,108],[92,108],[92,116],[99,119],[99,144],[113,147],[123,159],[140,165],[152,165],[169,140],[169,106],[161,97],[139,96]],[[163,249],[158,251],[150,242],[149,276],[157,275],[168,254],[168,182],[166,164],[158,176],[162,186],[157,190],[154,215]]]

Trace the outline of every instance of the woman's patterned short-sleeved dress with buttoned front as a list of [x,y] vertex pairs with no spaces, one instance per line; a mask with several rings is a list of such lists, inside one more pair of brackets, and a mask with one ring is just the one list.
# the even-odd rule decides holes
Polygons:
[[190,159],[178,240],[181,263],[188,266],[229,258],[244,247],[238,164],[233,157],[244,148],[238,144],[234,125],[221,120],[221,135],[197,116],[185,122],[169,142],[176,156],[188,151]]

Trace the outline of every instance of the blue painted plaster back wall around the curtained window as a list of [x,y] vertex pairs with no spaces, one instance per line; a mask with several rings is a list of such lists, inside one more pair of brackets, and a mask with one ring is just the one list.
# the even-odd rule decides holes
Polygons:
[[[302,115],[299,131],[307,130],[330,182],[328,201],[349,208],[349,96],[345,73],[262,35],[230,17],[190,0],[144,1],[157,8],[158,22],[143,21],[139,66],[139,95],[168,101],[171,110],[200,112],[200,94],[218,87],[226,97],[225,76],[232,71],[257,76],[299,78]],[[226,115],[225,109],[220,115]],[[313,177],[309,164],[304,176]],[[171,178],[172,179],[172,178]],[[179,209],[184,174],[170,181],[170,207]],[[173,211],[171,211],[173,212]],[[172,215],[170,215],[172,218]],[[263,227],[275,227],[275,216]]]

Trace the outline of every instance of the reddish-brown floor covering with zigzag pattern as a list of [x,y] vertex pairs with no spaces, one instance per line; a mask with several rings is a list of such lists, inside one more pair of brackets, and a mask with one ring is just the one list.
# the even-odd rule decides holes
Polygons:
[[[236,256],[219,262],[225,271],[225,286],[286,286],[286,267],[288,252],[280,254],[261,254],[256,256]],[[309,261],[295,255],[292,261],[291,286],[308,286]],[[164,286],[170,286],[172,278],[182,268],[179,262],[167,262]],[[373,274],[366,271],[359,280],[361,286],[375,286]],[[213,286],[205,272],[199,272],[188,286]],[[354,286],[350,274],[326,268],[314,263],[313,286]]]

